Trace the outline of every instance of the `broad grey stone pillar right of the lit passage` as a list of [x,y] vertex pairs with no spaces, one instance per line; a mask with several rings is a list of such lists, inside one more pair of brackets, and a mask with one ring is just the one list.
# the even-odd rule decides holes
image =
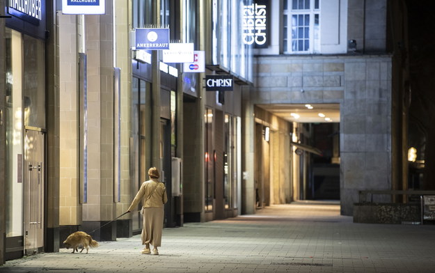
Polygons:
[[[340,105],[341,214],[352,215],[362,189],[391,189],[391,59],[345,61]],[[375,202],[390,197],[374,196]]]

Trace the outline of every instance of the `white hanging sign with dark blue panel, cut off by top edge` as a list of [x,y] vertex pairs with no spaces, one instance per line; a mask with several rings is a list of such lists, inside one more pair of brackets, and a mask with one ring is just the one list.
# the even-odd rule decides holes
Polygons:
[[105,14],[105,0],[62,0],[63,14]]

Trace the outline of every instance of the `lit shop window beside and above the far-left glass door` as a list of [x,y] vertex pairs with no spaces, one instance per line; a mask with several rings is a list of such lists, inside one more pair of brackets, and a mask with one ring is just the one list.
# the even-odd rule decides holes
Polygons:
[[44,42],[6,29],[6,236],[22,235],[23,129],[45,127]]

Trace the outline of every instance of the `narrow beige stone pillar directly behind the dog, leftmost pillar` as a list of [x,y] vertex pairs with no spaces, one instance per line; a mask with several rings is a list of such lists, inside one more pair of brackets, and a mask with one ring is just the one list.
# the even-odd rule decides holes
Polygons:
[[[82,15],[79,15],[82,16]],[[81,225],[81,205],[79,204],[79,172],[77,171],[78,128],[78,55],[77,55],[77,15],[58,14],[59,48],[59,93],[60,107],[60,189],[59,225],[60,247],[63,241]]]

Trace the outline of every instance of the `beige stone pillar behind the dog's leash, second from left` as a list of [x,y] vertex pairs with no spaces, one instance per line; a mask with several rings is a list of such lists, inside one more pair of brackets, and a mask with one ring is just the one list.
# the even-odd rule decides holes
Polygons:
[[[86,15],[88,72],[88,202],[83,226],[96,240],[116,240],[113,199],[113,14]],[[104,228],[100,228],[104,226]]]

